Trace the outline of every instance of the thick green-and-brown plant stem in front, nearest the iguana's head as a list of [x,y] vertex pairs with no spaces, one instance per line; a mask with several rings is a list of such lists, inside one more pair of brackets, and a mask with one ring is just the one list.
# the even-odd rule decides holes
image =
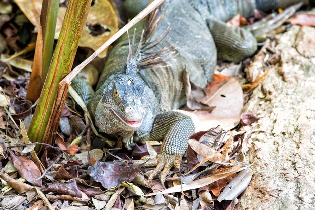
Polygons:
[[[61,32],[55,48],[32,122],[28,130],[31,142],[43,142],[58,83],[71,71],[80,36],[92,0],[69,0]],[[35,148],[36,151],[39,147]]]

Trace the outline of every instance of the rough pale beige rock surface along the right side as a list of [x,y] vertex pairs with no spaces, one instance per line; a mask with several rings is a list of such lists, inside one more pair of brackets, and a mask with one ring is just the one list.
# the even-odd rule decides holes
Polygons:
[[[315,209],[315,28],[293,26],[275,43],[279,64],[243,110],[264,115],[254,126],[266,132],[248,142],[254,175],[238,209]],[[259,62],[248,75],[268,68]]]

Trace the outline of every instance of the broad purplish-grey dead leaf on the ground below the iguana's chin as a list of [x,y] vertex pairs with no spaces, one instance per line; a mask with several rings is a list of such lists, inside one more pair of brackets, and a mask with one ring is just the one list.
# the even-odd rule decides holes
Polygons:
[[114,187],[123,181],[132,181],[140,171],[141,166],[128,166],[122,162],[96,162],[89,166],[89,175],[101,182],[106,189]]

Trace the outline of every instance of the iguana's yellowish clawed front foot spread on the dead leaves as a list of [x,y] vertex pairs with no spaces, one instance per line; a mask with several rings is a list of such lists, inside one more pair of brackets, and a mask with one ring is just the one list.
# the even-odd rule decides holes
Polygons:
[[153,178],[160,174],[161,183],[165,182],[166,176],[169,174],[171,168],[174,166],[176,170],[180,169],[182,161],[181,155],[164,155],[159,154],[155,157],[143,156],[141,160],[136,161],[135,165],[143,164],[143,167],[155,167],[154,171],[148,178],[148,182],[151,182]]

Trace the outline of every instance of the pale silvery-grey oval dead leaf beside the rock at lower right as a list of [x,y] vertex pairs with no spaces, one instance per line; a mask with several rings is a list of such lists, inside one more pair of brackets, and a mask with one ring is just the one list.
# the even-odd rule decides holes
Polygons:
[[252,169],[246,169],[240,172],[221,192],[218,201],[234,200],[237,198],[249,185],[252,179]]

